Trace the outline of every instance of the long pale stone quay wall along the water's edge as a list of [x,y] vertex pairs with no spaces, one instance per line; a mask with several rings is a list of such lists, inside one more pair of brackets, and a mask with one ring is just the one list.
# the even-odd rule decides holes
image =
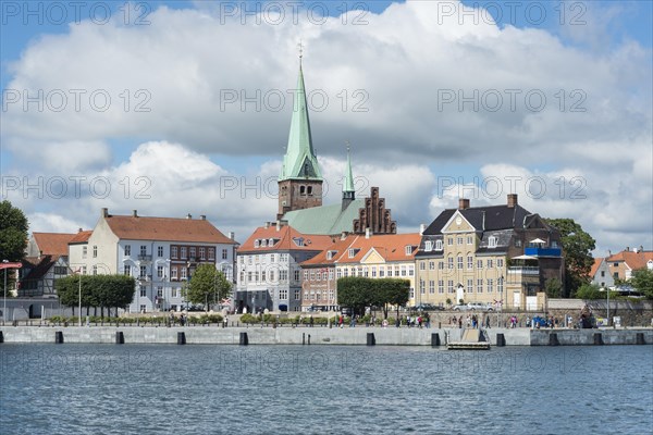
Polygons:
[[[219,326],[1,326],[4,344],[444,346],[464,328]],[[493,346],[653,345],[653,328],[482,330]]]

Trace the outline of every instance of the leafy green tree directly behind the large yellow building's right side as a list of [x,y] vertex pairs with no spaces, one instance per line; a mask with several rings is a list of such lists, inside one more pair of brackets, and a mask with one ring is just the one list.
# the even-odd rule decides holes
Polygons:
[[582,284],[590,282],[590,270],[594,263],[592,250],[595,248],[596,240],[572,219],[545,219],[544,221],[560,232],[565,259],[565,287],[560,296],[571,298]]

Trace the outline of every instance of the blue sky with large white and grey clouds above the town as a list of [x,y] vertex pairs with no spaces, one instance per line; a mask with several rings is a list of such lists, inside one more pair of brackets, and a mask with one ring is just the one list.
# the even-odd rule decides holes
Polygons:
[[33,232],[276,213],[299,46],[324,203],[402,233],[459,197],[653,245],[652,2],[23,2],[1,9],[1,199]]

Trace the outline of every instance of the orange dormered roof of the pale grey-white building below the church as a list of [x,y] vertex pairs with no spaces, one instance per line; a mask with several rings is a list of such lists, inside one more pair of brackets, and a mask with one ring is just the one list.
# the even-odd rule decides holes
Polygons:
[[[269,240],[273,244],[270,246]],[[266,240],[266,246],[259,243],[258,248],[255,247],[256,240]],[[331,236],[311,235],[299,233],[297,229],[288,225],[282,225],[276,231],[276,225],[272,224],[269,227],[259,226],[238,248],[241,252],[269,252],[284,250],[305,250],[305,251],[321,251],[329,245],[333,244]]]

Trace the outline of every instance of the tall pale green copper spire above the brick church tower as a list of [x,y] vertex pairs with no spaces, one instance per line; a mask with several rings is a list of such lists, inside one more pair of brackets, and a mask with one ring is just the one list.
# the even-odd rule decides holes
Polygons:
[[297,89],[294,92],[293,119],[288,145],[283,157],[280,181],[284,179],[322,179],[322,173],[312,147],[310,135],[310,121],[308,119],[308,104],[304,88],[304,73],[301,71],[301,57],[299,57],[299,77]]

